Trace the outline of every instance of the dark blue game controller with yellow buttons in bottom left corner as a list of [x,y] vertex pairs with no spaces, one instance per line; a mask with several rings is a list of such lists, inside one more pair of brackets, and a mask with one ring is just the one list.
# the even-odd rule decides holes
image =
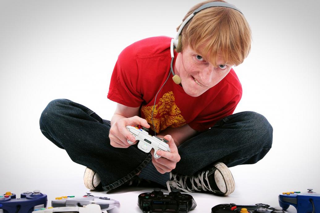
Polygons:
[[0,195],[0,213],[31,213],[36,209],[47,206],[47,195],[39,190],[21,193],[20,198],[16,194],[6,192]]

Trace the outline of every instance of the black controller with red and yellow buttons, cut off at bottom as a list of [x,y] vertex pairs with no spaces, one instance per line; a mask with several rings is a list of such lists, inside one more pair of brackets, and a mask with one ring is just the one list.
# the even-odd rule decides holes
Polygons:
[[270,207],[268,204],[237,205],[235,203],[219,204],[212,207],[211,213],[284,213],[281,207]]

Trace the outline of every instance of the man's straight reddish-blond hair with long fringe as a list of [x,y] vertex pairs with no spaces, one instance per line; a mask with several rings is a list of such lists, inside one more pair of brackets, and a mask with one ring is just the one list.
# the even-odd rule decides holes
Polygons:
[[[183,20],[200,6],[216,1],[225,2],[208,0],[196,4]],[[182,51],[183,47],[189,45],[214,66],[217,66],[219,56],[223,57],[225,64],[239,65],[251,49],[250,26],[243,14],[231,8],[210,7],[196,13],[183,28],[181,35]]]

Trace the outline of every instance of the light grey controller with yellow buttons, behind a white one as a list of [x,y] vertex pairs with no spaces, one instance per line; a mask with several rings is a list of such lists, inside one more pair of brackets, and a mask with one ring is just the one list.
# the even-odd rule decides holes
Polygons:
[[119,201],[110,199],[108,197],[95,197],[88,193],[82,197],[74,197],[74,196],[65,196],[65,197],[57,197],[55,200],[52,200],[52,207],[71,207],[78,206],[82,207],[84,205],[88,205],[91,203],[95,203],[100,206],[101,210],[107,210],[108,213],[118,213],[120,208]]

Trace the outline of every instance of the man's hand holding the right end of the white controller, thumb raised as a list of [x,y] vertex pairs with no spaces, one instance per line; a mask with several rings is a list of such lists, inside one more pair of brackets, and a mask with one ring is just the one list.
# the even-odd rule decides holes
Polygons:
[[178,153],[178,148],[174,143],[171,135],[164,136],[164,139],[169,141],[169,148],[171,152],[166,152],[162,150],[157,151],[157,155],[161,156],[158,159],[153,157],[154,149],[151,149],[152,163],[156,167],[157,171],[161,174],[172,171],[176,168],[176,164],[180,161],[180,155]]

